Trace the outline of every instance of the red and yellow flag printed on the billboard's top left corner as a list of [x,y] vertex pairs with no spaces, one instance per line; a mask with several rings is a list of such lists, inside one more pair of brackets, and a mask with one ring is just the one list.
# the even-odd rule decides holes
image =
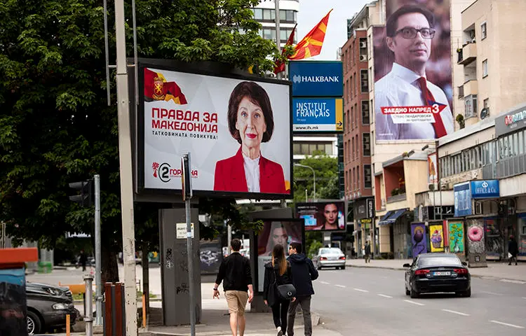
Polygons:
[[154,100],[173,100],[175,104],[188,104],[187,97],[175,82],[167,82],[163,74],[144,69],[144,100],[153,102]]

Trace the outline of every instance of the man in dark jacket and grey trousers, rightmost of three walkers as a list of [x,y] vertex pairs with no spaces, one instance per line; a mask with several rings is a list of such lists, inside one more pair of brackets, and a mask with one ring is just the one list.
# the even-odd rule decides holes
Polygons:
[[292,269],[292,283],[296,288],[296,300],[288,307],[288,336],[294,335],[294,320],[298,304],[302,307],[305,336],[312,335],[311,297],[314,294],[312,281],[318,279],[318,271],[312,260],[302,253],[302,244],[290,243],[288,261]]

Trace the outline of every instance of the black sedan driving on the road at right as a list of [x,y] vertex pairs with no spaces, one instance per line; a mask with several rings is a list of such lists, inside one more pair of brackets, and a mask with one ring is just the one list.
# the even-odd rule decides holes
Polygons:
[[405,271],[405,295],[412,298],[422,293],[447,293],[471,296],[471,276],[466,262],[451,253],[424,253],[414,258]]

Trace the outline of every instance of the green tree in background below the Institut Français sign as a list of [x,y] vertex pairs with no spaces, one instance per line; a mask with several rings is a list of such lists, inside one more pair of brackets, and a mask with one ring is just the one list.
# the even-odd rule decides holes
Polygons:
[[[316,174],[316,198],[339,199],[338,159],[323,153],[316,153],[299,161],[314,169]],[[309,198],[313,198],[313,174],[311,169],[294,166],[294,200],[305,202],[305,189]]]

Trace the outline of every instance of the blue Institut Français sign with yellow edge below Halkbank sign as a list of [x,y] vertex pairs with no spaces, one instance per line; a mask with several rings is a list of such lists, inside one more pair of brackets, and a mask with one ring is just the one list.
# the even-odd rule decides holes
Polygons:
[[293,98],[294,132],[344,132],[344,99]]

